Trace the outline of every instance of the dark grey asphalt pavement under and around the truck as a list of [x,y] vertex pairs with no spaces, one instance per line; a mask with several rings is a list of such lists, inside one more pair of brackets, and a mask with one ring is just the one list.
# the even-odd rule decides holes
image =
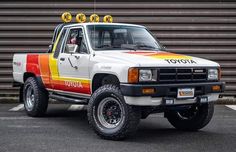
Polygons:
[[215,106],[208,126],[198,132],[174,129],[153,114],[135,136],[100,139],[89,127],[85,107],[50,104],[43,118],[28,117],[23,105],[0,104],[0,152],[236,152],[236,106]]

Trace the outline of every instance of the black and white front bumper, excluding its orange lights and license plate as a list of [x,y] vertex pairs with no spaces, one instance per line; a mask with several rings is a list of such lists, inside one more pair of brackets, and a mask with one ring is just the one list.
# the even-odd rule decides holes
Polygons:
[[[219,91],[213,91],[212,86],[220,86]],[[225,89],[224,82],[181,83],[181,84],[121,84],[121,92],[129,105],[157,106],[193,104],[196,102],[211,102],[219,97]],[[154,88],[154,94],[144,94],[144,88]],[[177,99],[178,88],[194,88],[194,98]],[[204,101],[202,100],[204,99]],[[205,100],[206,99],[206,100]],[[172,101],[170,103],[170,101]]]

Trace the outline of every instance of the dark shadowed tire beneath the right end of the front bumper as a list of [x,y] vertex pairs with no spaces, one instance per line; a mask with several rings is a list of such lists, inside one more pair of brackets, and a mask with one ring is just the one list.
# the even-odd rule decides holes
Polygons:
[[205,127],[211,120],[214,113],[214,103],[204,103],[198,106],[199,110],[191,119],[183,119],[177,111],[165,113],[168,121],[179,130],[197,131]]

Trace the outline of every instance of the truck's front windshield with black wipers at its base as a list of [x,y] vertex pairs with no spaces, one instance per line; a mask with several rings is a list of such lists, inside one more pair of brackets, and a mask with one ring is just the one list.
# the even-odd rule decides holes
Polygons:
[[92,48],[99,50],[160,50],[161,45],[142,27],[127,25],[88,25]]

